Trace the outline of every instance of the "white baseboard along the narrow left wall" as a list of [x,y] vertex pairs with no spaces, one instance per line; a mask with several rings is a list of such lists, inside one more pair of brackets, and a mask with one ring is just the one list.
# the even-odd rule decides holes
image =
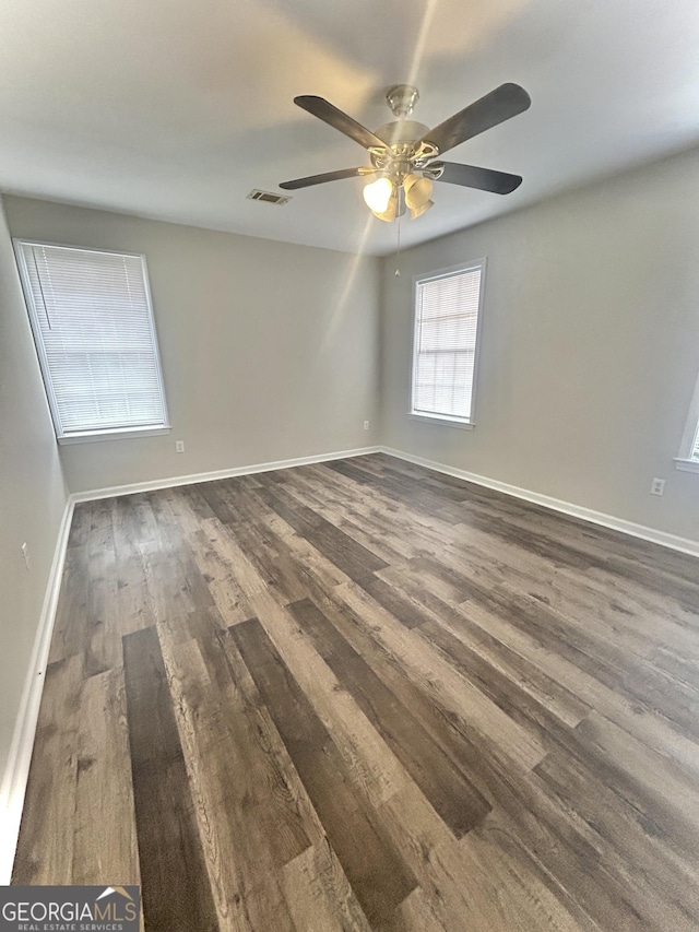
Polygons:
[[63,510],[58,532],[44,604],[42,605],[42,614],[34,638],[32,659],[12,734],[10,754],[2,777],[2,788],[0,789],[0,884],[9,884],[12,875],[12,864],[14,862],[20,823],[22,821],[24,794],[29,776],[29,764],[32,763],[34,735],[36,733],[42,693],[44,691],[46,663],[51,645],[58,595],[63,575],[68,534],[73,517],[73,497],[70,496],[66,503],[66,509]]

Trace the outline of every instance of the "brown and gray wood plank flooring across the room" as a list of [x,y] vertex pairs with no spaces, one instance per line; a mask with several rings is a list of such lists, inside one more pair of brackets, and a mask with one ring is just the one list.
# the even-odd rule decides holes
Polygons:
[[147,932],[699,929],[699,563],[374,455],[79,505],[15,883]]

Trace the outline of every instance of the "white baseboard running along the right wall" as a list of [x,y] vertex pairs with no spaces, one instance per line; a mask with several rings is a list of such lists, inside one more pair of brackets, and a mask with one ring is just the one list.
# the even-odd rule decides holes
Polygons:
[[552,498],[549,495],[542,495],[538,492],[530,492],[528,488],[520,488],[517,485],[510,485],[507,482],[499,482],[496,479],[488,479],[485,475],[477,475],[473,472],[467,472],[455,467],[445,465],[434,460],[426,460],[424,457],[415,457],[412,453],[406,453],[403,450],[394,450],[392,447],[381,447],[381,452],[390,457],[396,457],[406,462],[422,465],[426,469],[431,469],[435,472],[442,472],[446,475],[453,475],[455,479],[463,479],[466,482],[473,482],[476,485],[483,485],[486,488],[494,488],[497,492],[503,492],[506,495],[511,495],[514,498],[523,498],[525,502],[532,502],[535,505],[542,505],[544,508],[550,508],[552,511],[560,511],[564,515],[570,515],[573,518],[581,518],[583,521],[590,521],[591,524],[601,524],[603,528],[611,528],[613,531],[621,531],[632,538],[640,538],[643,541],[650,541],[654,544],[660,544],[670,550],[679,551],[680,553],[689,554],[690,556],[699,557],[699,541],[691,541],[688,538],[679,538],[676,534],[668,534],[665,531],[657,531],[655,528],[647,528],[644,524],[636,524],[633,521],[627,521],[624,518],[616,518],[614,515],[605,515],[602,511],[594,511],[592,508],[584,508],[581,505],[573,505],[571,502],[561,502],[559,498]]

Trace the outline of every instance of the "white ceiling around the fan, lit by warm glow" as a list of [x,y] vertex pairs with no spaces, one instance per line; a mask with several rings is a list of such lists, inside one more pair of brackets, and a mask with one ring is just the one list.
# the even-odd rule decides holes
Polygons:
[[507,197],[435,186],[410,245],[699,142],[697,0],[2,0],[0,189],[383,255],[362,181],[251,188],[367,164],[293,104],[375,129],[417,84],[441,122],[514,81],[532,107],[448,158],[524,176]]

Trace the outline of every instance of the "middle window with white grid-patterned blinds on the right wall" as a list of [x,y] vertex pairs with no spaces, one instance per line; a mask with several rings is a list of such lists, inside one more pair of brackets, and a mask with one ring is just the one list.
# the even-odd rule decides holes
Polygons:
[[411,414],[472,426],[485,259],[415,281]]

